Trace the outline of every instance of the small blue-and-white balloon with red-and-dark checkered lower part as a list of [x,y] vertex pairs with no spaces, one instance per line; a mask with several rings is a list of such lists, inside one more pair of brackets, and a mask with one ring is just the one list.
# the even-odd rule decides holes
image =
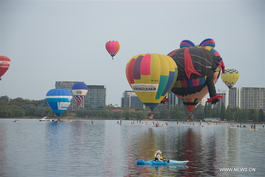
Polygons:
[[72,93],[78,105],[80,105],[87,95],[87,85],[84,82],[76,82],[72,86]]

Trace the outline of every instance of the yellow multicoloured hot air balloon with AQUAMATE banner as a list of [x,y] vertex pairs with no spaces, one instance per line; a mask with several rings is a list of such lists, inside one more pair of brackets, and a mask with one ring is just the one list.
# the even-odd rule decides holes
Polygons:
[[126,65],[126,77],[132,90],[151,111],[173,87],[177,74],[174,60],[163,54],[135,55]]

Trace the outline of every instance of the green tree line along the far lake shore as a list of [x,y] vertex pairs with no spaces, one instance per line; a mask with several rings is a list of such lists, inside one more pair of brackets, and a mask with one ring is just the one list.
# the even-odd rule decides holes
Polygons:
[[[0,118],[13,118],[13,117],[28,117],[28,118],[40,118],[48,116],[51,118],[57,118],[48,104],[43,104],[44,100],[29,100],[22,99],[20,97],[16,99],[10,99],[8,96],[0,97]],[[81,119],[148,119],[150,109],[146,107],[130,109],[129,107],[114,107],[112,104],[105,106],[104,110],[86,110],[80,109],[74,114],[68,114],[68,110],[62,115],[63,118],[81,118]],[[172,121],[185,121],[188,117],[188,111],[183,104],[176,105],[174,108],[168,108],[164,106],[162,109],[156,109],[153,112],[153,118],[156,120],[172,120]],[[235,122],[264,122],[265,115],[262,109],[247,109],[234,107],[227,108],[224,104],[221,104],[221,110],[218,110],[218,105],[215,108],[211,107],[211,104],[206,103],[205,106],[198,104],[193,109],[193,119],[203,119],[204,117],[220,118],[222,121],[235,121]]]

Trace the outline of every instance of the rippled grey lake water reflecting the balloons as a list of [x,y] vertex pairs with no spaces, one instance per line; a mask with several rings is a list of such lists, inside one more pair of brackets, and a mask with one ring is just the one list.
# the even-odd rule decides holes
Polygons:
[[[40,122],[0,119],[0,176],[264,176],[265,130],[131,124],[122,120]],[[160,121],[159,121],[160,122]],[[136,123],[136,121],[135,121]],[[160,122],[162,123],[162,122]],[[234,126],[237,124],[234,124]],[[257,125],[262,128],[261,125]],[[189,160],[181,166],[136,165],[153,160]],[[220,172],[255,168],[256,172]]]

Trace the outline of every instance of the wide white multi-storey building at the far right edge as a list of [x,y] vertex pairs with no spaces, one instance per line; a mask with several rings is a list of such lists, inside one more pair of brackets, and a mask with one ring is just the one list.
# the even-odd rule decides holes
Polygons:
[[265,112],[265,87],[232,87],[228,103],[232,108],[261,108]]

